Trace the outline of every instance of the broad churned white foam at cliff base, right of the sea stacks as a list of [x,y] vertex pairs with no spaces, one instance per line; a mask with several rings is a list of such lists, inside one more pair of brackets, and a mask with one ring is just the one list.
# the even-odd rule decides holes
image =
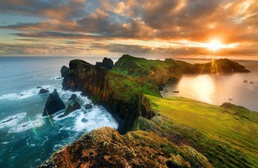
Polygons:
[[[87,120],[86,123],[82,122],[82,118],[85,118]],[[80,115],[76,118],[75,121],[75,130],[77,132],[81,131],[91,131],[99,127],[113,127],[117,129],[118,123],[117,121],[112,117],[108,111],[106,111],[103,108],[95,107],[88,113],[80,113]]]

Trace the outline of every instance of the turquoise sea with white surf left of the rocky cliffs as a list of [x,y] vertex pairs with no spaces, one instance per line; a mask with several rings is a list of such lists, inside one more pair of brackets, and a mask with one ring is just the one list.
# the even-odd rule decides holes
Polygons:
[[[80,92],[68,101],[74,92],[62,89],[60,68],[71,59],[95,64],[103,58],[0,57],[0,167],[36,167],[84,132],[103,126],[117,129],[117,121],[103,106],[84,109],[91,101]],[[49,93],[38,94],[41,88],[57,89],[66,106],[77,101],[82,109],[63,118],[58,116],[65,110],[42,117]]]

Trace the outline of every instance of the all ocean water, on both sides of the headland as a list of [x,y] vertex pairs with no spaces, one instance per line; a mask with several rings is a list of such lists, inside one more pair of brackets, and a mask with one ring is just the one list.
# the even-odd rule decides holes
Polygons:
[[[93,57],[0,57],[0,167],[36,167],[51,153],[70,144],[93,129],[103,126],[117,128],[118,123],[103,107],[93,105],[87,97],[76,92],[82,109],[58,118],[63,113],[42,117],[49,94],[38,94],[40,88],[56,88],[67,106],[72,92],[62,90],[60,68],[71,59],[84,59],[91,64],[103,58]],[[117,59],[115,59],[116,61]],[[190,63],[204,63],[207,59],[183,59]],[[251,73],[185,75],[176,83],[165,86],[165,97],[182,96],[221,105],[228,102],[258,111],[258,62],[238,61]],[[247,80],[247,83],[243,83]],[[251,84],[253,81],[254,84]],[[179,90],[179,93],[171,91]],[[87,122],[82,123],[82,118]]]

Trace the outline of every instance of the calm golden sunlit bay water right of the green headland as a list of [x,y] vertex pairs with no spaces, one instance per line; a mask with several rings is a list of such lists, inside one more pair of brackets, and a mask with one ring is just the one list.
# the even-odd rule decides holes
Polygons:
[[[209,59],[181,60],[191,64],[212,61]],[[183,75],[178,81],[165,85],[165,90],[161,93],[164,97],[188,97],[218,106],[224,102],[231,102],[258,112],[258,61],[234,61],[251,72]],[[244,80],[247,81],[244,82]]]

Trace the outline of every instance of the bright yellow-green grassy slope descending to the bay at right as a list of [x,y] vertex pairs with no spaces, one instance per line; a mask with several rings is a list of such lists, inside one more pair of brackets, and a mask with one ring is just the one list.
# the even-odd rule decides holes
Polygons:
[[[221,163],[225,167],[258,166],[256,112],[247,112],[247,109],[237,106],[225,109],[182,97],[146,97],[150,99],[153,109],[169,118],[164,123],[167,123],[166,127],[160,125],[162,130],[169,132],[175,129],[180,134],[186,134],[190,137],[188,141],[192,142],[215,167],[221,167]],[[182,125],[190,126],[205,136],[195,136],[189,129],[181,128]]]

